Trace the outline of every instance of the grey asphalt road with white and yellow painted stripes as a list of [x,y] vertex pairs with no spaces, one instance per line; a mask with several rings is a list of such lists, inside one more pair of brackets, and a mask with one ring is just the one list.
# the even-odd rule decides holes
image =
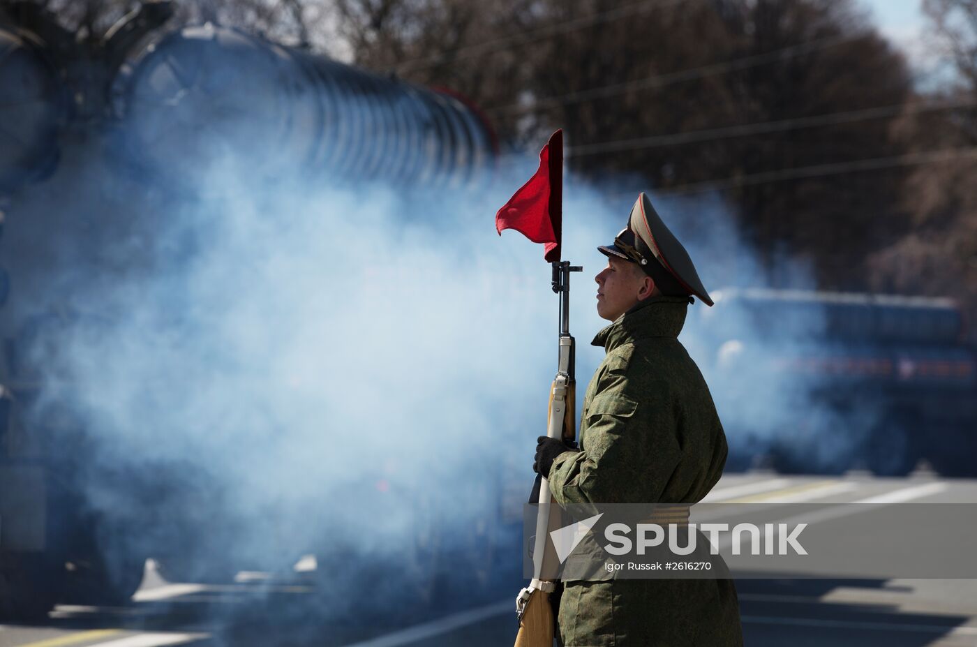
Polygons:
[[[737,588],[746,645],[977,646],[977,579],[906,579],[899,577],[905,572],[898,566],[899,560],[932,559],[938,569],[941,564],[945,568],[948,559],[960,559],[920,553],[925,537],[920,533],[933,530],[926,510],[937,506],[916,503],[977,503],[977,481],[945,480],[926,473],[907,479],[731,474],[720,481],[711,498],[748,506],[770,521],[820,511],[825,532],[851,538],[836,542],[839,555],[850,552],[846,546],[857,547],[859,538],[886,538],[871,544],[870,552],[884,557],[878,564],[869,559],[849,564],[835,555],[839,559],[831,563],[841,564],[844,572],[827,578],[737,572],[731,563],[740,576]],[[866,512],[867,505],[871,513]],[[693,521],[695,515],[694,509]],[[968,546],[977,543],[973,528],[973,519],[967,518],[960,520],[959,528],[940,532],[948,537],[962,534],[961,545]],[[891,571],[879,572],[886,564]],[[967,577],[975,568],[974,561],[959,565],[959,573]],[[451,594],[449,604],[425,617],[383,622],[379,617],[351,615],[345,622],[325,623],[320,620],[323,614],[314,587],[301,573],[277,580],[239,574],[235,582],[225,585],[173,583],[156,574],[150,560],[131,605],[60,606],[43,623],[0,625],[0,647],[494,647],[511,644],[515,636],[513,600],[520,585],[513,582],[511,590],[506,585],[492,599],[477,601],[466,600],[459,592],[462,586]]]

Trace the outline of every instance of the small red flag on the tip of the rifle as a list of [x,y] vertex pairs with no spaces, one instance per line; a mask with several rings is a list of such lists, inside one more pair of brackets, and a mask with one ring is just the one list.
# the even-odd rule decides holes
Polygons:
[[545,242],[543,258],[560,260],[563,209],[563,129],[539,151],[539,169],[495,214],[495,231],[514,229],[533,242]]

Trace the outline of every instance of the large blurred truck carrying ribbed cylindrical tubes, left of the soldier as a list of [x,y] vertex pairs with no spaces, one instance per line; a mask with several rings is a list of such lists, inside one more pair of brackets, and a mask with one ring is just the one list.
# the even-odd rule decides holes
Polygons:
[[[151,448],[109,469],[95,460],[105,448],[66,404],[57,359],[68,330],[110,315],[86,311],[65,277],[110,290],[151,271],[119,241],[153,236],[171,196],[228,151],[254,185],[466,186],[496,157],[488,123],[453,95],[231,28],[171,28],[172,15],[147,2],[79,42],[33,2],[0,8],[0,616],[125,601],[149,556],[173,581],[227,580],[244,565],[213,556],[261,531],[239,526],[205,470]],[[381,478],[364,491],[378,510],[409,488]],[[114,503],[94,506],[95,489]],[[140,510],[140,523],[116,510]],[[267,545],[280,554],[257,557],[289,564],[309,547]]]

